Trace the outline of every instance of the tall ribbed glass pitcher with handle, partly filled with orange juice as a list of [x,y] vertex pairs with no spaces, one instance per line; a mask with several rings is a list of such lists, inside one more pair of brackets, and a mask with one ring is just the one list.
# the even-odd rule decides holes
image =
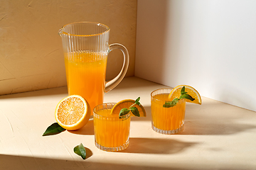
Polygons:
[[[68,94],[85,98],[92,111],[103,103],[104,94],[124,78],[129,65],[128,51],[117,43],[109,45],[110,28],[101,23],[70,23],[59,30],[59,35],[63,43]],[[106,82],[107,55],[114,49],[122,51],[124,63],[117,77]]]

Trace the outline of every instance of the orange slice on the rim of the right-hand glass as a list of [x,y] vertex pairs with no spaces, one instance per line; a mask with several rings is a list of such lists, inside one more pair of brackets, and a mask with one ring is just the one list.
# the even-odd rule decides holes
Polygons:
[[181,89],[183,88],[183,86],[185,86],[185,91],[188,92],[188,94],[190,96],[195,98],[194,101],[185,99],[186,102],[196,103],[196,104],[201,105],[202,100],[201,100],[200,94],[198,93],[198,91],[196,91],[196,89],[194,89],[192,86],[188,86],[188,85],[178,85],[174,89],[172,89],[171,93],[169,94],[169,100],[172,101],[172,100],[174,100],[174,98],[179,98],[181,96]]

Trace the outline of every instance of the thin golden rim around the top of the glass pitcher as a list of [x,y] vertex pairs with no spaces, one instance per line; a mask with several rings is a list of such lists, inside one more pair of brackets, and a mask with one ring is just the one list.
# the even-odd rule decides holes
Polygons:
[[[98,26],[105,26],[107,28],[107,30],[105,30],[104,32],[102,33],[97,33],[97,34],[90,34],[90,35],[77,35],[77,34],[70,34],[70,33],[67,33],[65,31],[63,31],[63,28],[65,28],[65,26],[68,26],[70,24],[74,24],[74,23],[95,23],[97,24]],[[110,28],[108,26],[106,26],[105,24],[103,23],[97,23],[97,22],[87,22],[87,21],[81,21],[81,22],[74,22],[74,23],[68,23],[66,25],[64,25],[62,28],[60,28],[59,30],[59,35],[62,35],[62,34],[65,34],[65,35],[71,35],[71,36],[78,36],[78,37],[92,37],[92,36],[97,36],[97,35],[102,35],[102,34],[105,34],[107,32],[110,31]],[[60,33],[61,32],[61,33]]]

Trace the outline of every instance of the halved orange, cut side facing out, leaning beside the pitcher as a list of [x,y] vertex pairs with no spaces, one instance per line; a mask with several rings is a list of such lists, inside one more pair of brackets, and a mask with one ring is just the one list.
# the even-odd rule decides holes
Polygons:
[[85,98],[71,95],[63,98],[55,109],[57,123],[66,130],[78,130],[88,122],[90,106]]

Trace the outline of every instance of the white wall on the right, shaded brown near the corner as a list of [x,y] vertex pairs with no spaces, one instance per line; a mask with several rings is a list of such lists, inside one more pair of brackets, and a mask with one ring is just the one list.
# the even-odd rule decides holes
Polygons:
[[256,1],[138,0],[135,76],[256,111]]

